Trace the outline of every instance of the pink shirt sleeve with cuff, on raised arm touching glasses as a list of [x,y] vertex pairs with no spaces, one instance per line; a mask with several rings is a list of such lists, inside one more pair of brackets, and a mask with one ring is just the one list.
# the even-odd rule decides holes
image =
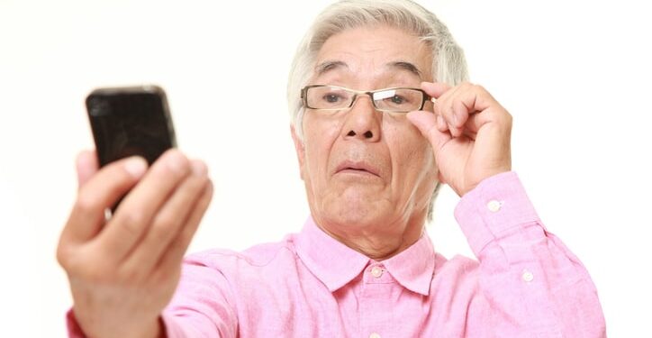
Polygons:
[[548,232],[514,172],[484,179],[462,197],[455,216],[480,261],[487,336],[606,336],[588,272]]

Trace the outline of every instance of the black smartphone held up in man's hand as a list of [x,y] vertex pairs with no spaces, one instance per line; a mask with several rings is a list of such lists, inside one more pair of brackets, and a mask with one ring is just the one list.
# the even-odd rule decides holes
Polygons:
[[86,97],[100,167],[132,155],[149,164],[177,147],[165,91],[158,86],[98,88]]

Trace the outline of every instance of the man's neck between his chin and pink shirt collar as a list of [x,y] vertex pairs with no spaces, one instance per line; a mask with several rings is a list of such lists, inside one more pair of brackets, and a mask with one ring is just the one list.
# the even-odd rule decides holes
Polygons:
[[400,224],[338,224],[315,219],[324,233],[372,260],[387,260],[419,241],[425,216]]

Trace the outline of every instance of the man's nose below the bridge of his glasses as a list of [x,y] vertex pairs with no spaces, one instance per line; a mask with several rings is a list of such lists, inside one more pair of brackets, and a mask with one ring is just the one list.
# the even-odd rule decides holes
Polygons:
[[358,96],[349,112],[346,114],[342,126],[344,139],[358,139],[365,142],[380,140],[380,123],[383,114],[378,114],[369,96]]

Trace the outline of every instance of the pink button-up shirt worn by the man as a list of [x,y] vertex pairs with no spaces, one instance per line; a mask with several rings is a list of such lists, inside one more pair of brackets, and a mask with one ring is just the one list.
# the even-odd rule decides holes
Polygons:
[[163,314],[168,337],[606,336],[589,274],[515,173],[485,179],[455,215],[478,260],[447,260],[428,235],[370,260],[312,218],[282,242],[191,255]]

